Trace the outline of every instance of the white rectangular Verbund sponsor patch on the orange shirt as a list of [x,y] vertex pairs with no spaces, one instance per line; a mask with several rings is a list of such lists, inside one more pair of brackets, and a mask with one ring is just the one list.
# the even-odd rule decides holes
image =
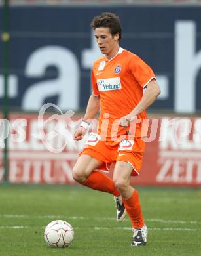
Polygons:
[[98,79],[98,91],[113,91],[121,89],[120,78]]

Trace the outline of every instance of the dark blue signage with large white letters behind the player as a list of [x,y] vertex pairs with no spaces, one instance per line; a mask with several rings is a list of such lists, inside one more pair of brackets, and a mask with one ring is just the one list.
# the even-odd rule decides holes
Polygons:
[[[101,56],[90,22],[105,11],[120,17],[120,46],[143,58],[156,74],[162,93],[150,110],[200,111],[201,8],[137,6],[11,7],[10,108],[37,111],[46,102],[62,110],[86,108],[92,64]],[[2,51],[1,42],[0,60]]]

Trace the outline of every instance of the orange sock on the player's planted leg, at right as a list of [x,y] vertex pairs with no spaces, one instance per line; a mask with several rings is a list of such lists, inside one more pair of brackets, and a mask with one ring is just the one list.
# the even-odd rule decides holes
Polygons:
[[126,207],[126,211],[130,220],[132,222],[133,228],[142,228],[145,223],[143,221],[143,215],[141,212],[141,205],[139,203],[139,194],[137,190],[134,190],[134,194],[132,194],[131,198],[124,199],[124,206]]

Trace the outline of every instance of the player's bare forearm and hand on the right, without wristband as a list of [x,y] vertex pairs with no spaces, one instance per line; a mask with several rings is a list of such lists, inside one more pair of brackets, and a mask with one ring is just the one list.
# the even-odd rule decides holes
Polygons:
[[130,112],[130,114],[120,119],[120,125],[126,127],[130,124],[130,121],[137,119],[137,115],[139,115],[141,112],[143,112],[143,110],[146,110],[151,104],[153,104],[158,95],[160,95],[160,87],[156,82],[156,79],[152,79],[147,84],[147,89],[137,106],[132,110],[132,112]]

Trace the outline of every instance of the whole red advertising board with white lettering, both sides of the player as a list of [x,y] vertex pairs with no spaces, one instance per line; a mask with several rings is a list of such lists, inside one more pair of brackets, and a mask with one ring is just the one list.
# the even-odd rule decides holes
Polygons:
[[[48,117],[45,116],[45,119]],[[65,118],[63,121],[65,126],[68,121]],[[71,171],[84,143],[74,146],[66,143],[63,135],[52,133],[55,127],[55,120],[47,120],[41,134],[37,115],[10,116],[10,183],[76,183]],[[48,142],[49,135],[51,140]],[[149,119],[149,135],[145,140],[147,146],[143,167],[138,177],[132,177],[133,185],[201,186],[201,119],[154,117]],[[1,139],[1,156],[3,146]],[[3,179],[2,159],[0,181]]]

